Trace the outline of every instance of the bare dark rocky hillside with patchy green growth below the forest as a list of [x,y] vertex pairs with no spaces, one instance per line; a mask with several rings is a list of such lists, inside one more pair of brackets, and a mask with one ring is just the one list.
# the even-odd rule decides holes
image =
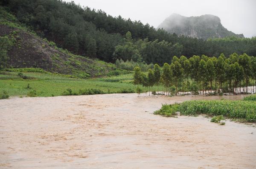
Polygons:
[[79,78],[116,74],[112,63],[77,56],[58,48],[54,42],[42,39],[18,23],[16,18],[0,10],[0,37],[12,40],[7,52],[7,68],[42,68],[53,73]]

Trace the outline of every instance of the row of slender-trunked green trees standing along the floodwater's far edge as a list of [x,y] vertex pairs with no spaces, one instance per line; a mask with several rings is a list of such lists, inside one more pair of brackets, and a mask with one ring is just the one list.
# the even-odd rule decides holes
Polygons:
[[[192,85],[191,85],[192,82]],[[256,57],[247,54],[231,54],[228,58],[221,54],[218,58],[174,56],[171,64],[163,67],[155,64],[153,70],[142,72],[134,68],[134,84],[145,87],[162,85],[165,91],[175,86],[175,94],[192,90],[202,94],[255,93]],[[249,86],[253,86],[249,88]],[[207,92],[208,91],[208,92]]]

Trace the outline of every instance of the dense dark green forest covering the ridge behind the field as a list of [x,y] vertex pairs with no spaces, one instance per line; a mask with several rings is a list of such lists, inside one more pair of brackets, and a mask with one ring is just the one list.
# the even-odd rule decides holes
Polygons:
[[2,0],[0,5],[59,47],[107,62],[134,59],[163,65],[164,62],[170,63],[172,56],[181,55],[218,56],[236,52],[256,56],[256,38],[228,37],[204,41],[179,37],[140,21],[112,17],[104,11],[62,0]]

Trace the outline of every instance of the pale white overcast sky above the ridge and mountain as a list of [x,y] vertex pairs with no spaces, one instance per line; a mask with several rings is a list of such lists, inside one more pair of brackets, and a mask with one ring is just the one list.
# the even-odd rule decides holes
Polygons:
[[[71,0],[66,0],[70,2]],[[107,14],[157,28],[172,13],[186,17],[213,14],[222,25],[245,37],[256,36],[256,0],[74,0],[81,6],[102,9]]]

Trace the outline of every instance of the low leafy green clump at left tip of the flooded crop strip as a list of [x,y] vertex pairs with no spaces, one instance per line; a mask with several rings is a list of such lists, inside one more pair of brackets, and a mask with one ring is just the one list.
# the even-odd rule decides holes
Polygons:
[[160,110],[154,111],[155,115],[163,115],[166,117],[174,117],[179,109],[179,104],[162,104]]

